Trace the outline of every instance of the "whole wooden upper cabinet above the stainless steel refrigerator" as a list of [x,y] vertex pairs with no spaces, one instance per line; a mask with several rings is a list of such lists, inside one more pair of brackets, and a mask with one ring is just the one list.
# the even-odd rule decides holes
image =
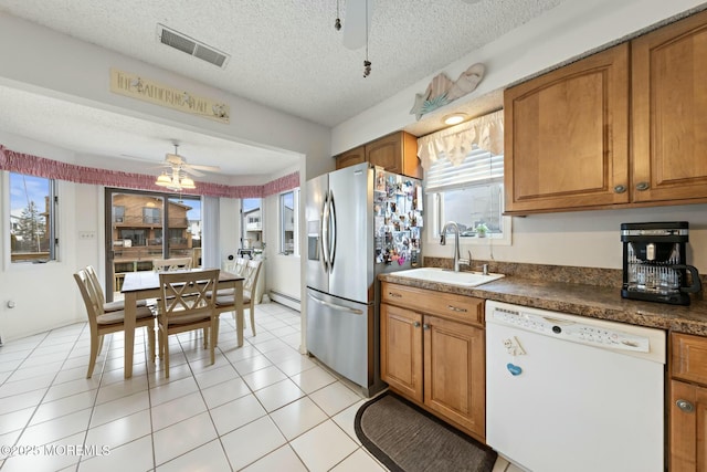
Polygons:
[[397,132],[336,156],[336,168],[370,162],[389,172],[422,178],[418,158],[418,138],[405,132]]

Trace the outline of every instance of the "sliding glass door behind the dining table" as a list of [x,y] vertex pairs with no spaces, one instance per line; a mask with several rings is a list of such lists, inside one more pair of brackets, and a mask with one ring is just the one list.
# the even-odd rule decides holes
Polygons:
[[155,259],[191,258],[201,266],[201,199],[106,189],[106,297],[128,272],[151,271]]

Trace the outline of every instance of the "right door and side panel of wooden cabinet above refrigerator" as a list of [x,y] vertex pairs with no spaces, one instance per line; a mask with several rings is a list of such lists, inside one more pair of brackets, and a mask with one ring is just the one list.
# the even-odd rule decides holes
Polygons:
[[409,133],[393,133],[368,143],[366,160],[389,172],[422,178],[422,168],[418,158],[418,138]]

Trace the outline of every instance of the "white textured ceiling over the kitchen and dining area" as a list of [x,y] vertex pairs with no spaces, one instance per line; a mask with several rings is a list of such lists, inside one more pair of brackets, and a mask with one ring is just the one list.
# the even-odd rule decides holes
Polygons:
[[[331,127],[561,1],[373,1],[368,46],[372,72],[367,78],[362,76],[366,49],[346,49],[342,32],[334,29],[337,3],[340,17],[346,18],[345,0],[0,0],[0,11]],[[229,63],[220,69],[160,44],[156,40],[157,23],[230,54]],[[4,109],[8,109],[6,103],[17,106],[18,101],[24,99],[33,98],[9,88],[0,90],[0,107]],[[34,99],[40,101],[39,97]],[[43,106],[41,103],[32,105]],[[184,145],[193,144],[191,153],[188,147],[180,149],[193,164],[222,166],[224,162],[219,160],[214,149],[226,151],[231,145],[205,136],[188,136],[187,139],[183,130],[157,125],[146,128],[139,120],[99,116],[105,112],[97,111],[88,114],[92,126],[85,132],[80,132],[78,127],[72,132],[75,119],[86,124],[86,109],[72,106],[68,116],[61,116],[60,108],[67,107],[57,107],[51,101],[46,106],[55,109],[48,114],[46,120],[51,116],[63,119],[61,126],[66,130],[63,141],[55,141],[60,133],[42,135],[40,129],[28,129],[33,127],[31,120],[36,117],[28,117],[25,126],[22,118],[8,123],[0,117],[0,129],[86,154],[115,158],[122,155],[155,156],[157,160],[169,150],[163,148],[165,143],[178,138]],[[116,119],[119,126],[114,133],[110,127]],[[112,126],[104,126],[107,123]],[[128,139],[133,134],[138,136]],[[207,143],[211,140],[214,143],[209,148]],[[128,148],[126,143],[130,141],[134,144]],[[162,148],[155,154],[158,145]],[[229,160],[233,160],[234,153],[240,156],[243,150],[265,153],[264,158],[272,160],[275,167],[296,162],[292,156],[282,156],[282,161],[276,164],[272,151],[242,145],[230,149]],[[234,165],[224,171],[272,171],[270,167],[254,168],[252,158],[242,160],[245,162],[241,166]]]

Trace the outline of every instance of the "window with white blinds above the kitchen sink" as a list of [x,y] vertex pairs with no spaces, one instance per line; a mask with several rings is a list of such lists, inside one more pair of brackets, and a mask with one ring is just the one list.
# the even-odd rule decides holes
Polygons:
[[465,242],[482,238],[508,240],[510,218],[503,217],[504,156],[477,146],[458,165],[446,158],[432,162],[425,174],[425,191],[431,209],[433,238],[449,221],[460,227]]

